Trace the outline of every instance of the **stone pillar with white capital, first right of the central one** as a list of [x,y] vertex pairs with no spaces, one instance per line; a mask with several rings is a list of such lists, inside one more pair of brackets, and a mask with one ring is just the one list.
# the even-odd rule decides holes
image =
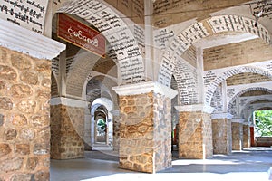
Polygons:
[[175,107],[180,112],[179,157],[205,159],[212,157],[210,113],[203,104]]

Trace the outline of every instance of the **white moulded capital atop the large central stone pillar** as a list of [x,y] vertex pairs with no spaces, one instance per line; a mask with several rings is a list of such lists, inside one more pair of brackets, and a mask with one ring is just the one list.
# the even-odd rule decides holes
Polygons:
[[121,85],[113,87],[112,90],[116,91],[118,95],[138,95],[154,91],[166,97],[173,99],[177,94],[177,90],[172,90],[170,87],[160,84],[159,82],[147,81],[136,84]]

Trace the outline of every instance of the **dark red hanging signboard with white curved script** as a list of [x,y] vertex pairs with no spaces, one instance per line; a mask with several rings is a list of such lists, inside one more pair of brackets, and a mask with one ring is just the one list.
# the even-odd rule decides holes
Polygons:
[[59,14],[57,35],[87,51],[105,56],[106,41],[103,35],[66,14]]

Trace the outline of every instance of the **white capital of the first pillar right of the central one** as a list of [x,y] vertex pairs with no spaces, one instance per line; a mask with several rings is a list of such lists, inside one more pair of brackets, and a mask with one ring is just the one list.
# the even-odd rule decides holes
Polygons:
[[186,105],[186,106],[175,106],[175,109],[179,112],[196,112],[196,111],[202,111],[206,113],[213,112],[214,108],[210,107],[205,104],[193,104],[193,105]]

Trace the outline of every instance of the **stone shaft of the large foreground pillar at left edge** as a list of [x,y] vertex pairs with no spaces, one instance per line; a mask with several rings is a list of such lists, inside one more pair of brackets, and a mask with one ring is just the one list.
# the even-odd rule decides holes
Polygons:
[[51,62],[0,47],[0,180],[49,180]]

